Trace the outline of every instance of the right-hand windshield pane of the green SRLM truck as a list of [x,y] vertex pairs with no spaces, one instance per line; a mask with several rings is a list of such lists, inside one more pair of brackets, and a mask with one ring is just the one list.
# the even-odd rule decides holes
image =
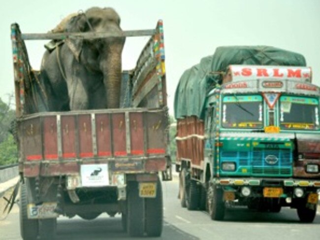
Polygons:
[[280,127],[282,129],[319,129],[318,99],[300,96],[281,96]]

